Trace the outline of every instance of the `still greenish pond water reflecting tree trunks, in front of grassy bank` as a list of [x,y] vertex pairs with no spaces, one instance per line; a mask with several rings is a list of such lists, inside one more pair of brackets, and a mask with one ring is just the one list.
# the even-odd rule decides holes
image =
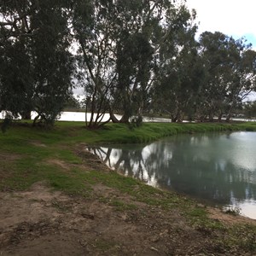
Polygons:
[[256,219],[256,132],[178,135],[89,148],[110,168]]

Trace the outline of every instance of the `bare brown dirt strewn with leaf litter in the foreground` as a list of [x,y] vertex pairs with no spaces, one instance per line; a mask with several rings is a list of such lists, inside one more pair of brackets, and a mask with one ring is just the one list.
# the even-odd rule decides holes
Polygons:
[[[72,197],[46,183],[0,192],[0,255],[241,255],[212,243],[217,234],[189,226],[175,209],[132,201],[135,209],[118,211],[99,198],[131,202],[129,195],[101,184],[93,194]],[[211,214],[223,222],[250,222],[218,210]]]

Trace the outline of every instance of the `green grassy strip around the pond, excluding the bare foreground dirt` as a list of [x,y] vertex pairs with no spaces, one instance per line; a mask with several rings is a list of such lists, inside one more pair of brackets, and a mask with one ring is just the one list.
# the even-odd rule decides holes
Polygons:
[[[25,190],[33,183],[44,181],[68,195],[101,201],[116,211],[136,211],[135,202],[164,212],[174,209],[187,220],[189,227],[209,237],[213,247],[221,248],[220,253],[227,250],[256,253],[254,224],[238,222],[230,225],[209,218],[207,207],[196,201],[109,172],[83,150],[84,144],[148,143],[177,133],[211,131],[256,131],[256,123],[147,123],[141,127],[109,124],[99,131],[88,131],[79,122],[57,122],[51,130],[18,123],[0,134],[0,190]],[[120,195],[132,200],[127,202],[111,195],[96,195],[94,188],[98,184],[119,191]]]

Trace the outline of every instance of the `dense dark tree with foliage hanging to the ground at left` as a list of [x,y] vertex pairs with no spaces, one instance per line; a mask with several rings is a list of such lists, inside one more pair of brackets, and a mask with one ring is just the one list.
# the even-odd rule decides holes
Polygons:
[[[40,119],[53,124],[64,108],[74,72],[68,28],[67,1],[39,1],[31,26],[36,32],[31,44],[33,64],[33,109]],[[35,120],[36,120],[35,119]]]

